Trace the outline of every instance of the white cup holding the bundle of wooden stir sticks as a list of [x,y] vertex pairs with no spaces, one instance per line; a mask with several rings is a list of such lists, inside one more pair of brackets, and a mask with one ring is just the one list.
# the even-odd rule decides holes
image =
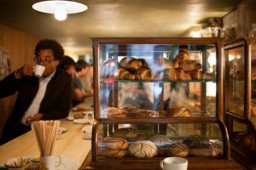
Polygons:
[[61,156],[41,156],[41,163],[45,169],[54,170],[61,166]]

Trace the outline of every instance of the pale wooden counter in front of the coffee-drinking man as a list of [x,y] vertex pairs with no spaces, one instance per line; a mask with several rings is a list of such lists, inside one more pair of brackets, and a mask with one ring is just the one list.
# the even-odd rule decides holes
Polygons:
[[[66,127],[67,133],[57,135],[54,155],[67,156],[77,161],[81,167],[91,148],[91,140],[83,139],[82,136],[82,129],[85,126],[88,127],[88,125],[62,119],[61,127]],[[38,155],[38,144],[34,134],[30,131],[0,146],[0,165],[3,165],[8,158]]]

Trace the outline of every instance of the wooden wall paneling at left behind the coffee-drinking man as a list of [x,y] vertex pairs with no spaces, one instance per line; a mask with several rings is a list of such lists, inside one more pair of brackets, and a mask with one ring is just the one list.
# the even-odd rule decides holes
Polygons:
[[[38,37],[32,37],[24,32],[0,25],[0,47],[9,52],[12,71],[25,63],[33,64],[34,48],[38,41]],[[13,95],[0,99],[0,136],[3,125],[12,111],[15,97],[16,95]]]

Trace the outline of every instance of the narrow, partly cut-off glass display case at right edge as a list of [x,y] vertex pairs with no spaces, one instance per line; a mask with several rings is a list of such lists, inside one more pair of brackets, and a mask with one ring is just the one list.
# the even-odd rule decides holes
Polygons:
[[[256,156],[256,39],[225,44],[226,122],[232,156],[248,168]],[[254,165],[253,165],[254,164]]]

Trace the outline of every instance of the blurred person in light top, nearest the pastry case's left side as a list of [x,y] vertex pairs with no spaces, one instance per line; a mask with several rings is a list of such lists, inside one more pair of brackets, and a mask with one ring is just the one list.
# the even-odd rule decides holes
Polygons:
[[79,59],[77,64],[81,67],[79,71],[79,79],[84,88],[85,96],[93,96],[93,67],[86,63],[83,59]]

